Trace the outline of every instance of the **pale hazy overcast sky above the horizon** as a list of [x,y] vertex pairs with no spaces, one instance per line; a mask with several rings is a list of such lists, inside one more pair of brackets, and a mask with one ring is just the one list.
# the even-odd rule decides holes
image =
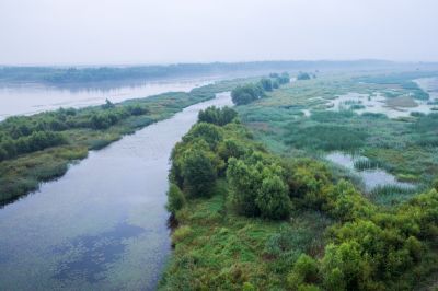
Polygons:
[[437,0],[0,0],[0,63],[438,61]]

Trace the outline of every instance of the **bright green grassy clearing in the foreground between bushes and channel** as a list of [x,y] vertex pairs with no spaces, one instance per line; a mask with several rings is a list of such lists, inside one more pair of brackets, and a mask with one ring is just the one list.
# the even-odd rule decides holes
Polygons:
[[177,221],[162,290],[242,290],[245,283],[283,290],[300,254],[322,255],[332,223],[312,210],[295,211],[285,222],[237,216],[227,206],[224,181],[211,197],[191,201]]

